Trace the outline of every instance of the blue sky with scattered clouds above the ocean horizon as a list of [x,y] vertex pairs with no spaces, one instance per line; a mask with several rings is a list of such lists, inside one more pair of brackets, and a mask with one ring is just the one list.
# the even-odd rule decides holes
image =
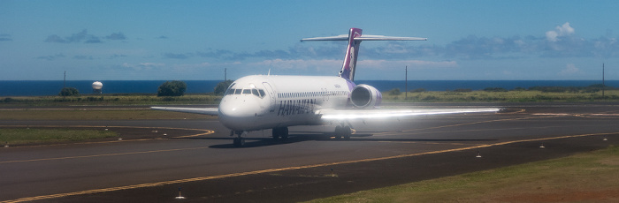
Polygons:
[[355,79],[619,79],[616,1],[0,1],[0,80],[335,75]]

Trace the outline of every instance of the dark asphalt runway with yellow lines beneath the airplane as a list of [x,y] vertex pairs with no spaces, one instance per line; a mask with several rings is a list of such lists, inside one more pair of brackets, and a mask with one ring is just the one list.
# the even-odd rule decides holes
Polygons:
[[439,108],[478,105],[509,110],[355,121],[350,140],[331,139],[330,125],[291,127],[281,142],[271,131],[251,132],[242,148],[217,121],[0,121],[142,131],[133,135],[140,139],[0,148],[0,201],[167,202],[179,200],[179,188],[182,201],[302,201],[619,143],[616,103]]

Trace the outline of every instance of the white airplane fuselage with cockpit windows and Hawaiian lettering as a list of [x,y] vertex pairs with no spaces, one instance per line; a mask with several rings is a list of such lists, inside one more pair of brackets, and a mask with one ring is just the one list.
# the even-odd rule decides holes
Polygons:
[[319,109],[343,109],[355,83],[340,77],[252,75],[237,79],[219,104],[233,131],[322,124]]

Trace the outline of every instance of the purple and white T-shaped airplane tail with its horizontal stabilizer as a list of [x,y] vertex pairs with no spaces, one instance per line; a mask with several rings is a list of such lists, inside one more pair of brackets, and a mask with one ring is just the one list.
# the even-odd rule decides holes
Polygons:
[[359,55],[359,44],[361,41],[425,41],[426,38],[418,37],[390,37],[383,35],[364,35],[362,36],[362,29],[350,28],[348,36],[346,34],[332,36],[332,37],[315,37],[306,38],[301,41],[347,41],[348,48],[346,49],[346,56],[344,57],[344,64],[342,64],[340,70],[340,77],[355,80],[355,66],[356,59]]

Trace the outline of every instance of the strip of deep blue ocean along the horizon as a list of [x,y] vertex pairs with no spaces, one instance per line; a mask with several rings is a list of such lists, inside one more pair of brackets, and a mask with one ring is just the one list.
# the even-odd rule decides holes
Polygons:
[[[184,80],[187,83],[187,94],[205,94],[213,89],[221,80]],[[93,80],[69,80],[66,86],[75,87],[80,94],[92,94]],[[103,94],[157,94],[157,87],[164,80],[103,80]],[[368,84],[379,91],[399,88],[405,89],[404,80],[357,80],[356,84]],[[424,88],[427,91],[446,91],[455,89],[482,90],[486,87],[516,87],[531,86],[591,86],[601,84],[600,80],[409,80],[408,89]],[[619,80],[606,81],[607,86],[619,86]],[[0,81],[0,96],[48,96],[57,95],[63,87],[62,80],[2,80]]]

